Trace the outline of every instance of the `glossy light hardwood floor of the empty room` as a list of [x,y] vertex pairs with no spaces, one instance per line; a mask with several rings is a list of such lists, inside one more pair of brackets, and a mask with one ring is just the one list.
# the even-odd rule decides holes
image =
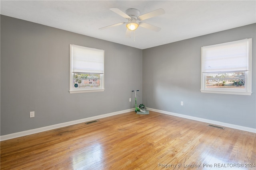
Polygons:
[[255,133],[153,111],[132,111],[0,144],[1,170],[256,169]]

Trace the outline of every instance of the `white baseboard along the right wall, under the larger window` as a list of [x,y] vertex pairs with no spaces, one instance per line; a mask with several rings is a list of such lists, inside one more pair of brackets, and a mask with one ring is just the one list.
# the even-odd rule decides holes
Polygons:
[[156,111],[158,113],[164,113],[167,115],[173,115],[173,116],[182,117],[182,118],[186,118],[186,119],[191,119],[191,120],[201,121],[201,122],[210,123],[210,124],[214,124],[214,125],[220,125],[220,126],[224,126],[224,127],[230,127],[233,129],[256,133],[256,129],[251,128],[251,127],[233,125],[233,124],[224,123],[224,122],[220,122],[220,121],[214,121],[214,120],[210,120],[210,119],[203,119],[203,118],[194,117],[194,116],[182,115],[182,114],[178,114],[178,113],[172,113],[172,112],[158,110],[158,109],[152,109],[152,108],[148,108],[148,107],[147,107],[147,109],[151,110],[151,111]]

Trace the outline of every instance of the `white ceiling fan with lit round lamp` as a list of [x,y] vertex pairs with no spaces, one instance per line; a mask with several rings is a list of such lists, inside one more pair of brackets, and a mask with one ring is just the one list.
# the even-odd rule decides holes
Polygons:
[[115,12],[116,14],[122,16],[123,18],[126,18],[128,21],[127,22],[116,23],[116,24],[113,24],[113,25],[109,25],[109,26],[106,26],[106,27],[99,28],[99,29],[106,29],[106,28],[126,24],[127,31],[134,31],[139,26],[150,29],[152,31],[160,31],[161,30],[160,27],[156,27],[154,25],[151,25],[151,24],[145,23],[145,22],[141,22],[141,21],[146,20],[148,18],[153,18],[155,16],[159,16],[159,15],[162,15],[162,14],[165,13],[162,8],[160,8],[158,10],[148,12],[148,13],[143,14],[141,16],[140,16],[140,11],[137,10],[137,9],[134,9],[134,8],[129,8],[125,12],[122,12],[118,8],[109,8],[109,9],[111,11]]

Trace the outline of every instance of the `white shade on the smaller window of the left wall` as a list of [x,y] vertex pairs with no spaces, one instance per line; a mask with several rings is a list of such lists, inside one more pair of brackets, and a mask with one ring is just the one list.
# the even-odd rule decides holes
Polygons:
[[104,74],[104,50],[71,45],[72,72]]

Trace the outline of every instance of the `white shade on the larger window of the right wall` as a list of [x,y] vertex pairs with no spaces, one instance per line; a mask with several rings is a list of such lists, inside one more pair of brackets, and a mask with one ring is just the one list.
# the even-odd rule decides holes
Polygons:
[[252,39],[242,39],[202,47],[202,72],[248,71],[251,41]]

